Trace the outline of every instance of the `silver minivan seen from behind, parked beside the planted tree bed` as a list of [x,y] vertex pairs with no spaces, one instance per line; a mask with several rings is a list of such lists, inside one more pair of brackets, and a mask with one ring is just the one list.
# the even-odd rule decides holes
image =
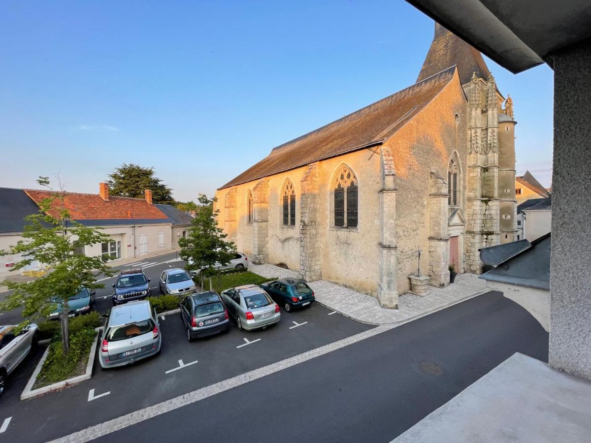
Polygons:
[[115,306],[100,345],[102,369],[124,366],[160,353],[162,337],[156,311],[147,300]]

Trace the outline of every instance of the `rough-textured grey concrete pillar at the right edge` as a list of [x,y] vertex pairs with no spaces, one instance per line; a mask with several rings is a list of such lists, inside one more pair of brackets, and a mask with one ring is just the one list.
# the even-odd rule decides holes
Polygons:
[[591,380],[591,41],[554,56],[550,366]]

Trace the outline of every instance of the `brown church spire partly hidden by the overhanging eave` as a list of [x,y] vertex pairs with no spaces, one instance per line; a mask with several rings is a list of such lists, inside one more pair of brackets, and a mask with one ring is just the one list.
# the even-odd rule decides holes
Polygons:
[[485,80],[491,74],[482,55],[475,48],[436,23],[433,43],[431,43],[423,68],[418,74],[417,82],[454,64],[457,65],[462,84],[470,82],[473,73],[476,73],[476,77],[482,77]]

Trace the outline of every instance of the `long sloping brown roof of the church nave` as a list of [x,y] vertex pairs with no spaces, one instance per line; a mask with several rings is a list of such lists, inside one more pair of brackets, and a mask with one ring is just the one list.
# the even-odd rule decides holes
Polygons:
[[452,79],[455,66],[277,146],[219,189],[278,174],[315,161],[380,145],[424,108]]

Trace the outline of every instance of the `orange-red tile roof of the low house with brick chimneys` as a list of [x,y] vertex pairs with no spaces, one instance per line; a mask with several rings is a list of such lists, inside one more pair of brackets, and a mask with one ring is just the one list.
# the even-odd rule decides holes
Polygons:
[[[29,197],[40,204],[46,198],[52,198],[52,191],[24,190]],[[59,203],[54,200],[56,206]],[[108,201],[99,194],[66,193],[64,200],[66,209],[70,211],[72,220],[98,219],[166,219],[167,217],[153,204],[140,198],[109,197]],[[50,215],[59,215],[57,210],[49,211]]]

